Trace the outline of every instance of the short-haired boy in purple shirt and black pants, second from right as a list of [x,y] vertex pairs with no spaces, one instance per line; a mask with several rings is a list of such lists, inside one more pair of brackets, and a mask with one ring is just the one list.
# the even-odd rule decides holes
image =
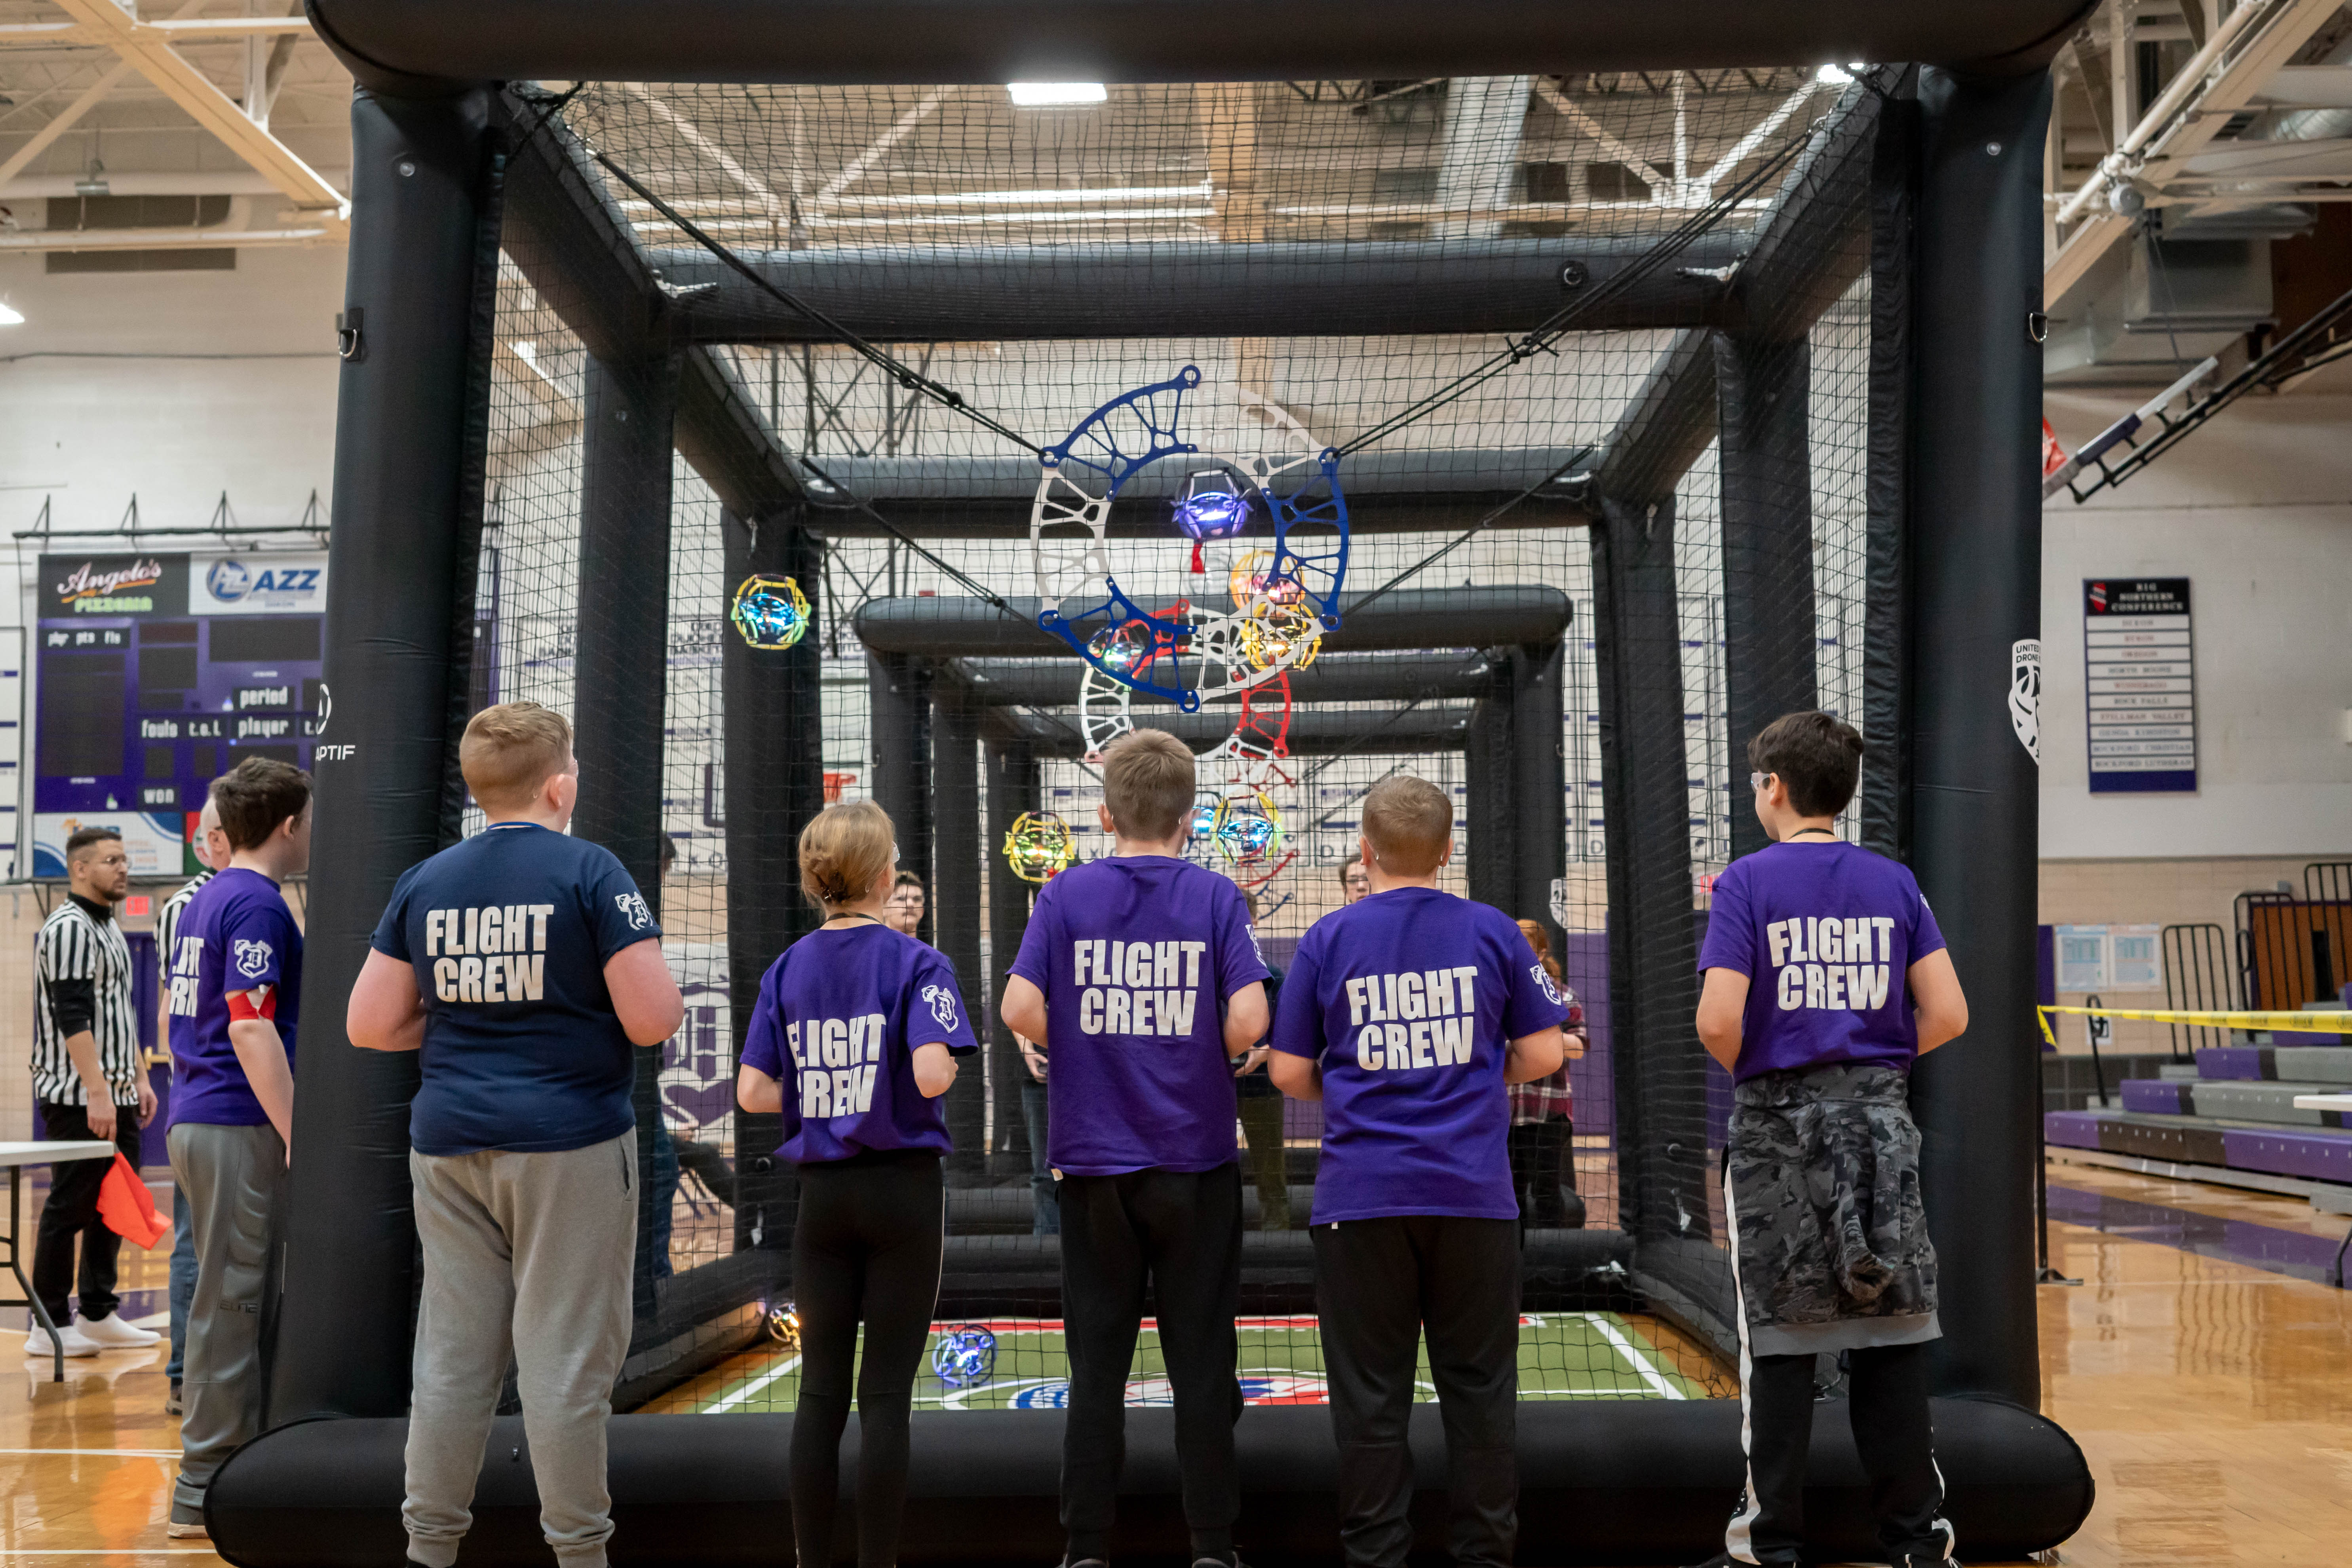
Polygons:
[[1414,1544],[1414,1361],[1446,1422],[1456,1563],[1508,1568],[1519,1537],[1519,1197],[1505,1084],[1559,1072],[1569,1009],[1508,914],[1437,886],[1454,802],[1390,776],[1364,797],[1371,893],[1298,943],[1275,1086],[1324,1103],[1315,1307],[1338,1439],[1348,1563]]

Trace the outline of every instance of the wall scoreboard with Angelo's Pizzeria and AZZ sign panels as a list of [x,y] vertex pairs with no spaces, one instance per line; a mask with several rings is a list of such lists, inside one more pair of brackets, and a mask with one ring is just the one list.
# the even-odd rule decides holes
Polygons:
[[122,835],[132,877],[191,877],[205,790],[245,757],[310,766],[325,555],[42,555],[33,658],[33,875]]

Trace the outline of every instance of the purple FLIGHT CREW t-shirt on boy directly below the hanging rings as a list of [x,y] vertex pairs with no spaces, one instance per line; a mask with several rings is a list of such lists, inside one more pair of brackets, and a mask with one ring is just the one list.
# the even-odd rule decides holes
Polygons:
[[1014,973],[1044,992],[1056,1171],[1235,1159],[1225,999],[1270,973],[1242,889],[1169,856],[1075,865],[1037,893]]

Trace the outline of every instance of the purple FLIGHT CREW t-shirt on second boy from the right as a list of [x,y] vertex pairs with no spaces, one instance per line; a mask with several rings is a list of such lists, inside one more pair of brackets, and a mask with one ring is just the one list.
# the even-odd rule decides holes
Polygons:
[[1275,1016],[1275,1051],[1322,1063],[1312,1222],[1519,1218],[1503,1053],[1566,1020],[1569,999],[1491,905],[1388,889],[1315,922]]

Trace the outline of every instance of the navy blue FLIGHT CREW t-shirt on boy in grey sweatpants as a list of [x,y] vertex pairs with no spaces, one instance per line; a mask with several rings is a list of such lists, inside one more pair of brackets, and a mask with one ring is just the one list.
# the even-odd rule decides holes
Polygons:
[[376,952],[416,969],[423,1084],[419,1154],[555,1154],[637,1126],[637,1063],[604,964],[661,938],[602,844],[494,823],[393,886]]

